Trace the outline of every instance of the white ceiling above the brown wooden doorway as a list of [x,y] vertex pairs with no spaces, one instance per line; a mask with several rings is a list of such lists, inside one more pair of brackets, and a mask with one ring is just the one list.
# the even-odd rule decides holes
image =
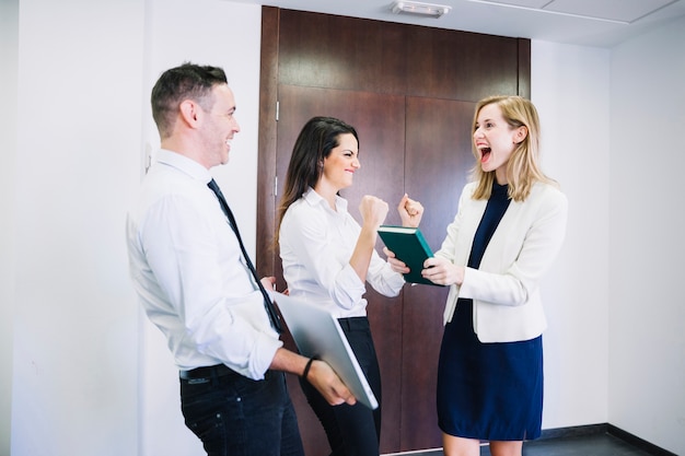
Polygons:
[[452,7],[440,19],[393,14],[392,0],[231,1],[599,47],[613,47],[685,15],[685,0],[430,1]]

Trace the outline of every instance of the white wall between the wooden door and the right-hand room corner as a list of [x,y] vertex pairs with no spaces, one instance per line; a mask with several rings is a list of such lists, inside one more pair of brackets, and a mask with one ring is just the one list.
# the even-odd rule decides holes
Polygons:
[[[543,283],[549,328],[543,428],[607,421],[609,51],[532,43],[545,172],[569,200],[566,244]],[[599,126],[605,126],[601,128]]]

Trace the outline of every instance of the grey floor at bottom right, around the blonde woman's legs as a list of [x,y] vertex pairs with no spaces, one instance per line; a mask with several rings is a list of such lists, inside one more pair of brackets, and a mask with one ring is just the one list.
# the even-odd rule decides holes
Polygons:
[[[443,453],[432,451],[407,455],[443,456]],[[480,456],[490,456],[487,445],[480,447]],[[523,456],[650,456],[650,453],[609,434],[591,434],[525,442]]]

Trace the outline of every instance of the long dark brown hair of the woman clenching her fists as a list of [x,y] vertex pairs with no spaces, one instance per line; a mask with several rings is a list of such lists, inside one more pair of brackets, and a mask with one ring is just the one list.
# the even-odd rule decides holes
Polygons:
[[286,172],[286,185],[283,196],[278,204],[276,234],[274,247],[278,247],[280,224],[286,211],[306,190],[316,186],[324,171],[324,159],[330,155],[330,151],[340,145],[340,135],[353,135],[359,144],[359,136],[355,127],[347,125],[335,117],[317,116],[311,118],[298,136],[292,149],[288,171]]

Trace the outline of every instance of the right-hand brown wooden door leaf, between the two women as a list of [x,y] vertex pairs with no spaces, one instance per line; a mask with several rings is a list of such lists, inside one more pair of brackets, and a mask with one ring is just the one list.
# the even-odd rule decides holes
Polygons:
[[[406,189],[425,208],[421,232],[433,250],[456,213],[471,166],[473,103],[407,98]],[[402,365],[402,451],[441,446],[436,412],[438,354],[448,288],[405,288]]]

